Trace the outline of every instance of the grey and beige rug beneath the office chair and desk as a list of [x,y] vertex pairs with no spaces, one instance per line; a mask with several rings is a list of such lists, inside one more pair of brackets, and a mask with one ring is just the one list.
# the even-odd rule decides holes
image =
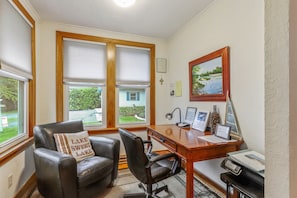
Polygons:
[[[179,174],[159,182],[156,185],[162,186],[167,184],[169,192],[160,192],[161,198],[183,198],[186,197],[186,174],[181,171]],[[138,187],[138,180],[131,174],[129,169],[119,171],[118,178],[114,183],[114,187],[106,189],[98,198],[122,198],[125,193],[143,192]],[[213,190],[194,179],[194,197],[201,198],[220,198]]]

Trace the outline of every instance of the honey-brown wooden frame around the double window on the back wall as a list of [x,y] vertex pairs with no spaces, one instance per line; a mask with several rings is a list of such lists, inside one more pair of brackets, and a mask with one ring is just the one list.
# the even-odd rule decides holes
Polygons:
[[[102,130],[115,130],[117,128],[117,93],[116,93],[116,45],[148,48],[150,50],[150,93],[149,93],[149,124],[155,124],[155,44],[104,38],[70,32],[56,32],[56,120],[64,120],[64,88],[63,88],[63,39],[78,39],[106,43],[107,68],[106,68],[106,126],[94,129],[93,132]],[[139,127],[138,125],[135,127]],[[144,124],[143,124],[143,127]]]

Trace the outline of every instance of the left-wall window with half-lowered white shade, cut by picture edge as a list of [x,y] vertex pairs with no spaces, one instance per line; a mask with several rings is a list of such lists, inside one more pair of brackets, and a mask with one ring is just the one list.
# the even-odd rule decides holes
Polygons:
[[34,31],[19,1],[0,0],[0,153],[32,136]]

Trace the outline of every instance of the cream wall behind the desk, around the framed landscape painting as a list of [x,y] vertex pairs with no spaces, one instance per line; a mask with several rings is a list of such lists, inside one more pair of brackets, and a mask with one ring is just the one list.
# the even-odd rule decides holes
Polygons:
[[[188,63],[222,47],[230,47],[231,99],[248,148],[264,154],[264,2],[259,0],[214,1],[194,17],[169,41],[170,83],[181,80],[182,97],[170,97],[168,110],[195,106],[212,110],[219,107],[224,120],[225,102],[190,102]],[[168,88],[169,89],[169,88]],[[168,93],[168,92],[167,92]],[[195,169],[224,186],[219,179],[219,163],[195,163]]]

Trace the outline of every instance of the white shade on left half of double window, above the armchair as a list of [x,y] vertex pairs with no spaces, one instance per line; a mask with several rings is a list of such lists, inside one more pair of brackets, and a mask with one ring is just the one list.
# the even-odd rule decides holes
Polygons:
[[101,43],[64,40],[64,82],[102,84],[106,76],[106,46]]

